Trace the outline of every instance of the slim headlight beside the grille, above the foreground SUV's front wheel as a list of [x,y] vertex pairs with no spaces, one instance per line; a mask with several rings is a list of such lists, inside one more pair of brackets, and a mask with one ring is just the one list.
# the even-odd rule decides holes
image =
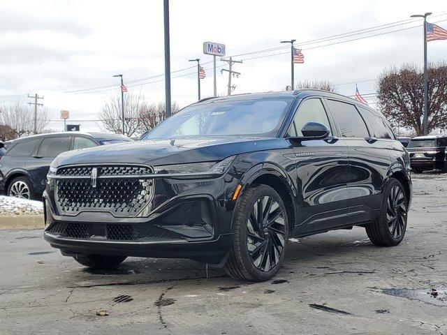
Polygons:
[[230,156],[219,162],[159,165],[154,166],[154,172],[156,174],[223,174],[235,157]]

